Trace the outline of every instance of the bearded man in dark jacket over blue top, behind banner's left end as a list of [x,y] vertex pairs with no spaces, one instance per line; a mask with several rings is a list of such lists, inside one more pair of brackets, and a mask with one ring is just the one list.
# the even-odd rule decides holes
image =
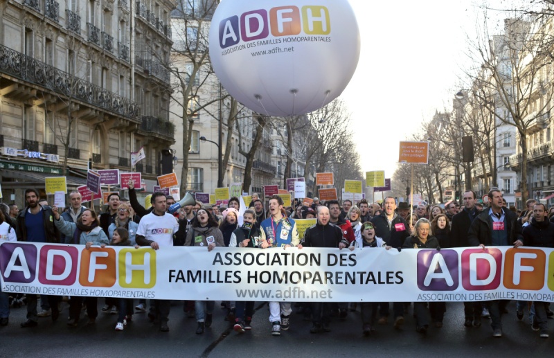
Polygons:
[[[40,242],[43,244],[60,243],[60,232],[54,226],[54,213],[50,206],[41,206],[39,193],[35,189],[25,190],[27,207],[17,215],[17,241]],[[60,311],[57,303],[60,296],[48,296],[48,304],[52,310],[52,321],[57,321]],[[27,321],[21,323],[21,328],[37,326],[37,295],[27,295]]]

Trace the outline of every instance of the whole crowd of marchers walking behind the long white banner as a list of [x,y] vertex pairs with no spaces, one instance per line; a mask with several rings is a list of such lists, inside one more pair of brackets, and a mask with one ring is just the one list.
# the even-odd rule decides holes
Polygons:
[[[320,202],[314,198],[311,206],[295,202],[283,207],[277,195],[264,205],[253,195],[250,207],[243,211],[243,224],[239,226],[240,200],[233,197],[226,208],[215,205],[187,205],[174,214],[168,208],[175,199],[163,193],[154,193],[150,208],[139,203],[134,182],[129,181],[129,197],[111,193],[105,209],[97,215],[91,208],[82,206],[78,192],[69,194],[66,210],[49,206],[39,198],[37,190],[25,192],[26,207],[21,211],[15,205],[0,204],[0,240],[39,243],[80,244],[87,249],[108,245],[151,247],[161,249],[173,246],[250,247],[260,249],[297,247],[326,247],[337,249],[437,249],[447,247],[554,247],[554,208],[548,211],[544,204],[533,199],[526,203],[526,211],[518,213],[506,208],[500,190],[488,193],[490,206],[476,202],[476,194],[463,193],[462,205],[449,202],[442,205],[411,207],[405,202],[397,204],[395,198],[385,197],[383,204],[370,204],[366,199],[357,203],[345,200]],[[415,209],[415,210],[414,210]],[[303,238],[296,229],[295,220],[315,218],[316,224],[308,228]],[[166,230],[157,230],[166,229]],[[167,230],[170,229],[170,230]],[[155,233],[155,234],[154,234]],[[38,325],[39,317],[57,321],[62,301],[69,302],[66,324],[77,327],[86,312],[87,323],[95,324],[98,316],[98,299],[103,301],[101,314],[117,316],[115,330],[123,330],[132,322],[133,314],[148,312],[150,321],[159,330],[169,330],[170,301],[134,301],[129,298],[62,297],[8,294],[0,292],[0,325],[9,324],[10,307],[26,305],[26,321],[21,328]],[[502,337],[502,315],[508,301],[465,302],[464,325],[481,327],[482,319],[490,319],[493,337]],[[303,319],[312,321],[310,332],[330,332],[332,317],[346,319],[348,312],[361,312],[361,332],[369,336],[377,325],[394,328],[404,325],[404,317],[413,307],[415,330],[425,334],[430,326],[441,328],[446,311],[445,302],[410,303],[291,303],[269,302],[269,327],[274,336],[291,325],[293,308]],[[40,311],[38,306],[40,305]],[[251,330],[254,302],[222,302],[225,319],[236,332]],[[392,315],[391,315],[392,305]],[[214,301],[184,301],[186,316],[197,321],[197,334],[203,334],[213,321]],[[262,311],[263,312],[263,311]],[[527,313],[530,326],[548,338],[547,318],[553,316],[548,303],[518,301],[516,316],[519,321]],[[407,318],[407,317],[406,317]],[[82,323],[85,324],[85,323]]]

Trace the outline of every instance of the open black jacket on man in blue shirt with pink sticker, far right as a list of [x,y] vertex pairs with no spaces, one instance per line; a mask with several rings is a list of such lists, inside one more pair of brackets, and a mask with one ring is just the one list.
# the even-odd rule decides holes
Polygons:
[[[467,243],[469,246],[479,246],[484,244],[485,246],[492,245],[492,235],[491,228],[489,224],[489,211],[490,209],[483,210],[481,214],[477,215],[475,220],[473,220],[470,231],[467,234]],[[517,215],[506,208],[502,208],[504,212],[504,224],[506,225],[506,230],[508,231],[508,243],[515,242],[517,240],[517,229],[516,221]]]

